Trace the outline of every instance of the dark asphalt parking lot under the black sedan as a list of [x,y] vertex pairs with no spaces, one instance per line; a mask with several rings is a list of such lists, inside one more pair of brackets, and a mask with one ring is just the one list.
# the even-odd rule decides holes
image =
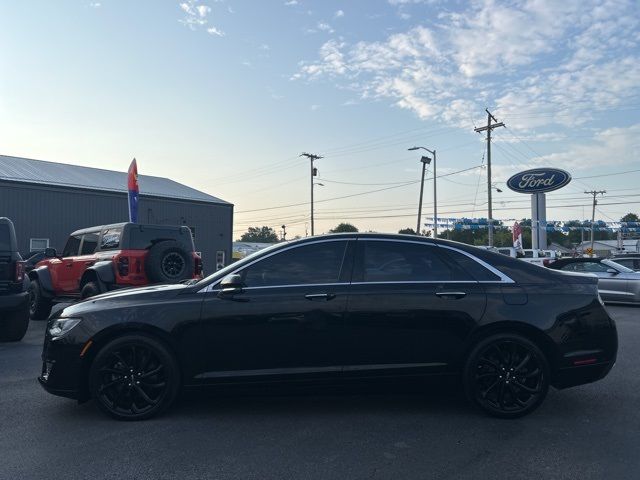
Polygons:
[[0,344],[0,479],[637,479],[640,308],[608,307],[618,363],[603,381],[552,390],[520,420],[432,395],[187,397],[123,423],[45,393],[43,322]]

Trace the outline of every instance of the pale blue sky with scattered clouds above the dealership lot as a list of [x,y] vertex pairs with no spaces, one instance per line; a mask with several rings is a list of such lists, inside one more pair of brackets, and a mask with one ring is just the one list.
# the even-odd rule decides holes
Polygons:
[[[164,176],[235,205],[234,237],[530,217],[506,180],[557,167],[549,220],[640,212],[637,0],[0,0],[0,154]],[[445,176],[446,175],[446,176]],[[144,186],[142,185],[142,190]],[[144,192],[142,192],[144,193]],[[433,215],[427,170],[423,223]]]

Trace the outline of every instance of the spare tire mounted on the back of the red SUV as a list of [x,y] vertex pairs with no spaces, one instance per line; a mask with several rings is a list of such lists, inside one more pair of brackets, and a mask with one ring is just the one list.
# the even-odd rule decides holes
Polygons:
[[153,283],[178,283],[193,277],[193,255],[175,240],[158,242],[149,250],[145,270]]

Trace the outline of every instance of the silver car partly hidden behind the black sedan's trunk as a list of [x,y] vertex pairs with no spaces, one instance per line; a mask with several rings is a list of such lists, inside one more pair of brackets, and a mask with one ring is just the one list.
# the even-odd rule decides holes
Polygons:
[[590,273],[598,277],[598,291],[605,302],[640,303],[640,272],[602,258],[563,258],[549,268]]

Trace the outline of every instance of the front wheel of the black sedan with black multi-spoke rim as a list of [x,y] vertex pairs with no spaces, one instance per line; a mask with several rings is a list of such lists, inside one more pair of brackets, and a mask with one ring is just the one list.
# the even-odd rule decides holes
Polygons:
[[158,340],[130,334],[105,345],[89,369],[91,396],[118,420],[146,420],[171,406],[180,389],[180,371]]

